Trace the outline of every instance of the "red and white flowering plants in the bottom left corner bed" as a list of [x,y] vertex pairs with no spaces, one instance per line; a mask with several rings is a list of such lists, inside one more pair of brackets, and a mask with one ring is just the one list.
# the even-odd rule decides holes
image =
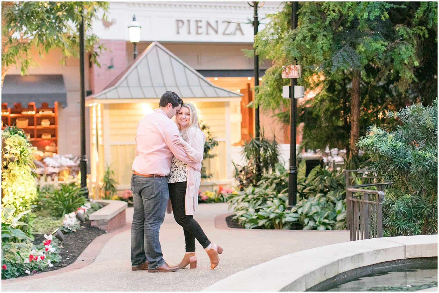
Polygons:
[[31,272],[53,267],[52,263],[61,261],[58,240],[53,239],[52,235],[44,234],[44,237],[46,240],[40,244],[31,242],[2,244],[2,279],[30,275]]

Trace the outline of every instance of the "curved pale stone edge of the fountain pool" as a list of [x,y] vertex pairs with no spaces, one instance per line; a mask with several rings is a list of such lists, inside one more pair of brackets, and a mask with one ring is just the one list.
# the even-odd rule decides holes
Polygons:
[[437,257],[437,235],[385,237],[286,254],[237,272],[203,291],[305,291],[339,273],[404,258]]

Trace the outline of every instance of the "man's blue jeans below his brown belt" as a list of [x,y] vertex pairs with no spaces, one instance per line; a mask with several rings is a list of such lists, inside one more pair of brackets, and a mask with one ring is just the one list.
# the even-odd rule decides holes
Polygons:
[[131,265],[139,266],[148,260],[148,268],[165,264],[158,240],[169,199],[166,177],[131,176],[134,214],[131,225]]

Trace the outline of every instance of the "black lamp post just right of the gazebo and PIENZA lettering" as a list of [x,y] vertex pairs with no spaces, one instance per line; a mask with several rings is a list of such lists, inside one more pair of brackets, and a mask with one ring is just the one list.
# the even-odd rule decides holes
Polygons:
[[[252,4],[250,2],[247,2],[248,5],[253,7],[253,28],[254,28],[254,35],[256,36],[258,34],[258,26],[259,26],[259,20],[258,20],[258,7],[262,7],[264,5],[264,2],[262,4],[259,4],[257,1],[253,1]],[[254,41],[253,41],[254,42]],[[255,87],[259,86],[259,56],[256,54],[256,50],[254,53],[254,61],[255,61]],[[254,91],[255,99],[256,99],[256,88]],[[261,141],[260,139],[260,126],[259,126],[259,106],[255,104],[255,138],[257,141]],[[256,152],[256,181],[259,181],[261,179],[261,159],[260,159],[260,153]]]

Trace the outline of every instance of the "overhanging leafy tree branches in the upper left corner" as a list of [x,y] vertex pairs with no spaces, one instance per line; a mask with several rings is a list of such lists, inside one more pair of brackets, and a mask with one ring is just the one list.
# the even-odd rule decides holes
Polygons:
[[86,51],[99,66],[97,57],[106,48],[91,33],[94,20],[105,16],[108,2],[2,2],[2,86],[13,65],[27,74],[49,50],[59,48],[61,64],[79,57],[79,24],[84,18]]

